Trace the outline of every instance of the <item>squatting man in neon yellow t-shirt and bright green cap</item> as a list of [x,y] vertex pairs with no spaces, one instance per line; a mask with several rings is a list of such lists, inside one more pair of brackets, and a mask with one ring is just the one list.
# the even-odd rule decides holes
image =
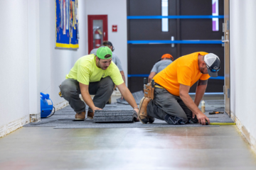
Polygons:
[[[97,55],[86,55],[75,62],[74,67],[60,86],[60,92],[76,112],[75,120],[85,119],[85,103],[89,106],[87,118],[92,119],[95,110],[102,110],[112,95],[114,84],[125,100],[138,113],[137,103],[125,86],[118,67],[112,62],[109,47],[100,47]],[[79,94],[82,94],[81,101]],[[95,95],[95,97],[90,97]]]

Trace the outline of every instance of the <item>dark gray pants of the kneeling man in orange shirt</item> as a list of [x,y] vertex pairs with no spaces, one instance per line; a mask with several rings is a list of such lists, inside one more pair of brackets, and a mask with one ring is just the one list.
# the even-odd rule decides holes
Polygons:
[[[174,96],[166,89],[155,88],[154,100],[146,107],[147,115],[166,120],[171,125],[197,123],[192,119],[192,111],[183,103],[179,96]],[[191,122],[192,121],[192,122]]]

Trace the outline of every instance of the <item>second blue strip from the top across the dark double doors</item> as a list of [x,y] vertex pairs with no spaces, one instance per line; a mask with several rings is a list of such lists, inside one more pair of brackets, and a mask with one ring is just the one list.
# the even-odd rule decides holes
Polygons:
[[222,40],[128,40],[128,44],[223,44]]

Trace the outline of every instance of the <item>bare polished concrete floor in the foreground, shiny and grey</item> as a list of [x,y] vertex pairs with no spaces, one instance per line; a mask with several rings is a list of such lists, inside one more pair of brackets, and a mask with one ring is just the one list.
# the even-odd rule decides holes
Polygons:
[[0,138],[0,169],[256,169],[235,125],[21,128]]

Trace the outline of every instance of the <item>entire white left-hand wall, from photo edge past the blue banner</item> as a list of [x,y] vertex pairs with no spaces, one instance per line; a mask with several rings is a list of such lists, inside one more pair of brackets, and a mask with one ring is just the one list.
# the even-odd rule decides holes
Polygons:
[[40,113],[40,92],[50,94],[54,105],[65,101],[58,85],[87,54],[85,3],[79,1],[80,47],[67,50],[55,49],[55,1],[0,1],[0,137]]

